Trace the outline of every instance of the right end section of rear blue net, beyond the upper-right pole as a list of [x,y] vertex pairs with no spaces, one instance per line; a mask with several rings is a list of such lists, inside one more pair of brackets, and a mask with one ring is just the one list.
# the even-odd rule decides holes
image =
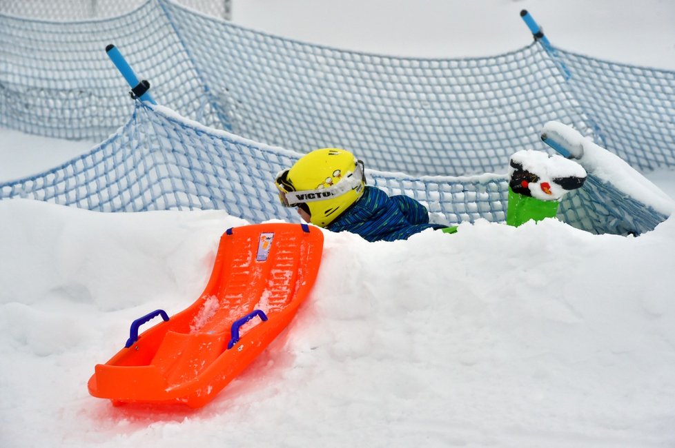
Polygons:
[[675,72],[554,55],[598,145],[637,169],[675,166]]

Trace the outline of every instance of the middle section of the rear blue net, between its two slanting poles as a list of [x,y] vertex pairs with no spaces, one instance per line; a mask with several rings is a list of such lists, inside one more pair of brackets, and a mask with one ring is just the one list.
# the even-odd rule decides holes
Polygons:
[[502,169],[555,119],[587,130],[539,45],[498,57],[414,59],[309,45],[166,13],[235,134],[298,152],[346,147],[380,170]]

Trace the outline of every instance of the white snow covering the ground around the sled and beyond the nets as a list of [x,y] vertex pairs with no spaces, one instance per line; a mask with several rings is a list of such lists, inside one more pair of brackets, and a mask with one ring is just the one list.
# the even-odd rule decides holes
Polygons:
[[[669,1],[235,0],[233,18],[452,57],[525,45],[522,8],[567,50],[675,68]],[[0,130],[0,179],[93,144]],[[675,172],[649,179],[675,197]],[[130,322],[193,303],[220,234],[244,224],[0,201],[0,447],[675,446],[675,218],[638,238],[553,220],[395,243],[326,232],[291,326],[210,405],[89,396]]]

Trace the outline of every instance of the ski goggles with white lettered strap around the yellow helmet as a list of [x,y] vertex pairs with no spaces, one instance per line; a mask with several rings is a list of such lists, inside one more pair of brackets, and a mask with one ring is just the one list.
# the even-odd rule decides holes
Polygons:
[[298,205],[308,202],[326,201],[326,199],[342,196],[342,194],[345,194],[346,192],[355,190],[359,185],[366,182],[363,162],[357,161],[354,171],[348,172],[346,176],[335,185],[317,188],[316,190],[302,190],[296,192],[293,190],[293,185],[287,180],[289,170],[283,170],[277,173],[277,180],[275,182],[279,189],[279,198],[282,201],[282,204],[284,204],[284,207],[297,207]]

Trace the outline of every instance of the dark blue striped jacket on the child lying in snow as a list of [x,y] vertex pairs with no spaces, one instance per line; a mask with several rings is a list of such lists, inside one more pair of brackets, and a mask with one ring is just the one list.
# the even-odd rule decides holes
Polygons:
[[441,229],[429,224],[424,205],[408,196],[387,196],[377,187],[366,185],[363,196],[326,226],[331,232],[359,234],[367,241],[405,240],[427,229]]

